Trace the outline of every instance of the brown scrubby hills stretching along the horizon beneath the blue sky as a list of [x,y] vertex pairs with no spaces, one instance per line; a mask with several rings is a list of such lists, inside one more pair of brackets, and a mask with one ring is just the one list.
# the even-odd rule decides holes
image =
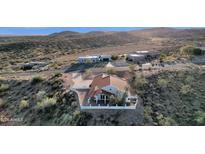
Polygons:
[[[93,31],[78,33],[64,31],[45,36],[0,36],[0,65],[18,58],[53,58],[101,47],[134,44],[145,49],[171,48],[186,44],[205,46],[205,28],[149,28],[128,32]],[[38,58],[37,58],[38,59]]]

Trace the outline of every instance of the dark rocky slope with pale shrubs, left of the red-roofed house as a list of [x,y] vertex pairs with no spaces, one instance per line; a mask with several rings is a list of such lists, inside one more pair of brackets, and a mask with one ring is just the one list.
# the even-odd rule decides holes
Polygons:
[[0,125],[87,125],[90,114],[79,111],[76,97],[59,78],[0,80]]

